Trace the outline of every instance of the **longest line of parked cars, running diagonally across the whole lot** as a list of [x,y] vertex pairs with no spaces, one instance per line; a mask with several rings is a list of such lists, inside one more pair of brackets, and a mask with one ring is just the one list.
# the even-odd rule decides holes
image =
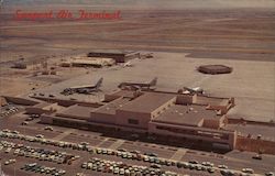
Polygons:
[[[36,136],[30,136],[30,135],[22,135],[16,131],[10,131],[8,129],[0,131],[0,136],[3,138],[11,138],[11,139],[20,139],[24,141],[30,142],[37,142],[45,145],[54,145],[63,148],[73,148],[77,151],[87,151],[89,153],[96,153],[96,154],[102,154],[102,155],[116,155],[122,158],[128,160],[136,160],[136,161],[144,161],[152,164],[157,165],[166,165],[166,166],[176,166],[178,168],[189,168],[189,169],[196,169],[196,170],[205,170],[210,174],[215,173],[216,169],[219,169],[221,175],[234,175],[237,172],[231,170],[226,165],[218,165],[215,167],[215,165],[210,162],[202,162],[199,163],[197,161],[189,161],[187,162],[178,162],[167,158],[158,157],[157,154],[154,153],[144,153],[142,154],[140,151],[127,151],[124,148],[119,150],[110,150],[110,148],[102,148],[102,147],[95,147],[89,145],[88,142],[81,142],[81,143],[70,143],[70,142],[63,142],[63,141],[55,141],[55,140],[48,140],[44,139],[43,135],[36,135]],[[251,168],[243,168],[241,172],[243,175],[249,175],[251,173],[254,173]],[[268,176],[273,176],[273,173],[266,173]]]

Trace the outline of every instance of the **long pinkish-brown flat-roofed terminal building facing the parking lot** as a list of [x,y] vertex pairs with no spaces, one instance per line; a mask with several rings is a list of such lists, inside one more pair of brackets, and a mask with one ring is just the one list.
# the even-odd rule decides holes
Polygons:
[[42,113],[43,123],[80,129],[131,131],[174,139],[191,139],[235,146],[235,131],[224,130],[233,98],[216,98],[164,91],[118,90],[106,95],[101,105],[58,106],[26,109]]

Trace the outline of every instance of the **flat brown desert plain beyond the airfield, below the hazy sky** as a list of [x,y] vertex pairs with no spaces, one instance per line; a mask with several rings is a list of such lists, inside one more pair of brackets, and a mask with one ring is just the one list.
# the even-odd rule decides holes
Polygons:
[[[121,20],[113,21],[16,21],[12,16],[18,7],[3,9],[1,55],[9,53],[12,57],[20,52],[25,56],[29,56],[28,53],[52,55],[92,48],[164,51],[190,53],[194,57],[249,61],[273,61],[275,55],[275,16],[272,9],[121,8]],[[67,9],[77,13],[77,9],[85,7]],[[1,61],[8,59],[9,55]]]

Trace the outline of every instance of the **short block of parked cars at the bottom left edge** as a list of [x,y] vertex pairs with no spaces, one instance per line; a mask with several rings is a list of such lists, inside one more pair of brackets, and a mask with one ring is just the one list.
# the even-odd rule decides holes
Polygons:
[[38,165],[37,163],[25,164],[23,167],[21,167],[21,169],[26,172],[52,175],[52,176],[62,176],[66,174],[66,170],[64,169],[58,169],[55,167],[46,167],[43,165]]

